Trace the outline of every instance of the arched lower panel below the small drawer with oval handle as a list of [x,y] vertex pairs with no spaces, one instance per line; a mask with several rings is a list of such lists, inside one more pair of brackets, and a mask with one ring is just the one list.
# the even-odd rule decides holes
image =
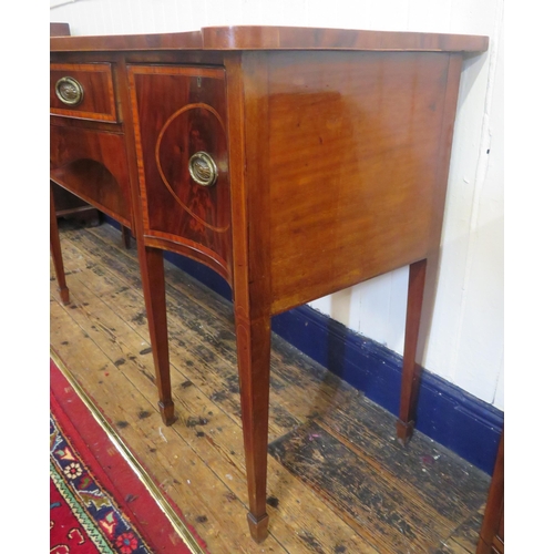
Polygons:
[[51,125],[50,178],[133,227],[124,135]]

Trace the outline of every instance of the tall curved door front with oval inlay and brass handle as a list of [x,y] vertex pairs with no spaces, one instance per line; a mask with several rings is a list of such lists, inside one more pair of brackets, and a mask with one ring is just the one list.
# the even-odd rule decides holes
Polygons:
[[127,72],[145,234],[189,248],[193,257],[199,252],[228,275],[225,72],[165,65]]

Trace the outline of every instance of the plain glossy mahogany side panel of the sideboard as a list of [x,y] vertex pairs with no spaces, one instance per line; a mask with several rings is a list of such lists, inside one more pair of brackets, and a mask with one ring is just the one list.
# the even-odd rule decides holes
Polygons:
[[427,257],[449,60],[271,53],[271,312]]

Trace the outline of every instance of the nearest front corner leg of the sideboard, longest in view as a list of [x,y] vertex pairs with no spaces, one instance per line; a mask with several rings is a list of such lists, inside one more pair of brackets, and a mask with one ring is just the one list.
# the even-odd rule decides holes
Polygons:
[[266,512],[267,432],[269,418],[269,356],[271,327],[269,317],[256,321],[236,317],[238,376],[243,437],[248,482],[252,537],[260,543],[267,537]]

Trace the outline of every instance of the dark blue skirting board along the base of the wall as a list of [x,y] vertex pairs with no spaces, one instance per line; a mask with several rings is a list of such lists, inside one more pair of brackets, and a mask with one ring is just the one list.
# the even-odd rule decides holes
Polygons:
[[[166,252],[165,258],[232,299],[229,286],[215,271],[174,253]],[[309,306],[275,316],[271,329],[370,400],[398,414],[401,356]],[[492,475],[503,424],[501,410],[423,369],[418,431]]]

